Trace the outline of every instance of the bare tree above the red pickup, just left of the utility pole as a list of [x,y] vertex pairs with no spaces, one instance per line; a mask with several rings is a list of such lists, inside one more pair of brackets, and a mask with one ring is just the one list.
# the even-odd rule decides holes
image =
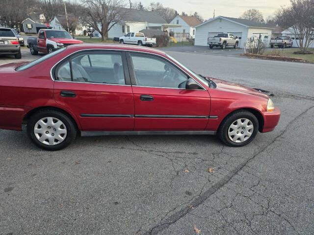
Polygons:
[[51,22],[60,12],[64,12],[62,0],[38,0],[38,6],[46,18],[46,22]]

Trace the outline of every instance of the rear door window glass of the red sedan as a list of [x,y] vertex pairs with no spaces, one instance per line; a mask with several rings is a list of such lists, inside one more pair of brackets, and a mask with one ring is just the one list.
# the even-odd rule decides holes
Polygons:
[[78,53],[71,57],[71,62],[60,64],[57,69],[57,79],[60,81],[125,85],[122,54],[121,52],[103,51]]

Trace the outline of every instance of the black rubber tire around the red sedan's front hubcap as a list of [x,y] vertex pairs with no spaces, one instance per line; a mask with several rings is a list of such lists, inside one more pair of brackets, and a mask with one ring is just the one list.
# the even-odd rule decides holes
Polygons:
[[[229,131],[229,127],[232,123],[234,123],[237,119],[240,118],[247,118],[249,119],[252,124],[253,124],[253,132],[251,134],[251,136],[249,137],[249,139],[247,139],[246,141],[243,142],[234,142],[232,141],[229,136],[228,136],[228,131]],[[241,129],[239,129],[240,131]],[[233,147],[240,147],[240,146],[244,146],[246,144],[248,144],[249,142],[253,141],[253,139],[256,137],[257,133],[259,131],[259,121],[256,118],[256,116],[246,110],[238,110],[235,111],[234,113],[228,115],[223,122],[221,123],[217,135],[220,138],[220,140],[222,142],[224,142],[225,144],[229,145],[229,146],[233,146]]]

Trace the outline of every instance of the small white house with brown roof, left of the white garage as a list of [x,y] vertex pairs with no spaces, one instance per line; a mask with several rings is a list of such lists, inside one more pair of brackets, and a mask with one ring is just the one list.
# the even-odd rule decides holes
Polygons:
[[[180,16],[177,15],[169,24],[182,25],[182,27],[169,27],[170,32],[183,33],[195,37],[195,26],[202,24],[195,16]],[[176,36],[176,35],[175,35]]]

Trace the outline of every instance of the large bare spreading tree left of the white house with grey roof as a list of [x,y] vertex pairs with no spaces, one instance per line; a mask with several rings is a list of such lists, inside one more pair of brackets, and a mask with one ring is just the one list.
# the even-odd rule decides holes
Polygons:
[[82,0],[86,15],[93,27],[102,35],[102,41],[108,37],[108,31],[116,24],[122,23],[128,14],[124,0]]

